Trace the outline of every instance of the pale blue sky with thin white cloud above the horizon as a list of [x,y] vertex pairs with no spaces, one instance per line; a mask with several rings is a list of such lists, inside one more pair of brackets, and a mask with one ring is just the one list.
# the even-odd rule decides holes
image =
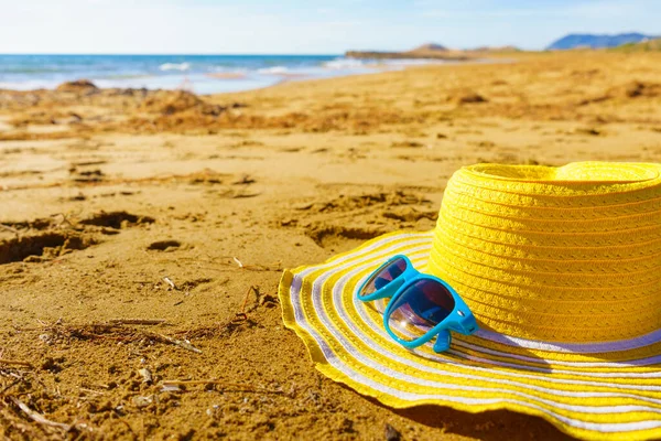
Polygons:
[[342,54],[661,35],[660,0],[0,0],[0,53]]

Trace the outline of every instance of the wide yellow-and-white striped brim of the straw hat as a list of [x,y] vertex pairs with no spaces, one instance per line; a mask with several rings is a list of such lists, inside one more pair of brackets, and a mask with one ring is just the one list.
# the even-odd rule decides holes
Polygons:
[[442,354],[433,341],[415,351],[395,343],[383,330],[383,303],[364,303],[355,290],[395,254],[424,272],[432,239],[433,232],[394,233],[284,272],[284,323],[305,342],[317,369],[394,408],[509,409],[588,440],[661,438],[661,330],[594,344],[480,330],[454,333]]

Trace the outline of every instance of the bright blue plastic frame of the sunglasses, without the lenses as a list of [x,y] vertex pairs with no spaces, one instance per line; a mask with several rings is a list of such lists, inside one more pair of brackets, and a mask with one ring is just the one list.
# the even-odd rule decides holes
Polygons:
[[[381,271],[384,267],[390,265],[393,260],[403,259],[407,262],[407,269],[392,279],[387,286],[376,290],[369,295],[360,295],[360,292],[365,289],[367,283],[372,279],[372,277]],[[407,341],[397,336],[397,334],[390,329],[390,315],[392,314],[392,305],[395,303],[394,300],[402,295],[404,291],[420,280],[432,280],[437,283],[441,283],[453,297],[455,305],[451,313],[443,319],[438,324],[434,327],[425,332],[418,338]],[[369,302],[379,299],[390,298],[388,302],[388,306],[386,306],[386,311],[383,312],[383,327],[386,332],[399,344],[408,348],[415,348],[422,346],[423,344],[430,342],[432,338],[436,337],[436,342],[434,343],[434,351],[440,353],[447,351],[449,348],[449,344],[452,343],[452,336],[449,331],[455,331],[464,335],[470,335],[478,330],[477,322],[475,316],[470,312],[468,305],[464,302],[464,300],[459,297],[459,294],[445,281],[438,279],[437,277],[423,275],[418,271],[411,260],[404,255],[397,255],[388,259],[383,265],[379,266],[376,270],[373,270],[358,288],[356,291],[356,297],[358,300],[364,302]]]

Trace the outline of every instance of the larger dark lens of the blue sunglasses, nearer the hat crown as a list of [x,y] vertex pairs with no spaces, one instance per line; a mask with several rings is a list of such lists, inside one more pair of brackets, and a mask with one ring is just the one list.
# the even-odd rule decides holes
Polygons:
[[388,324],[405,341],[424,335],[447,318],[455,306],[454,298],[435,280],[419,280],[393,300]]

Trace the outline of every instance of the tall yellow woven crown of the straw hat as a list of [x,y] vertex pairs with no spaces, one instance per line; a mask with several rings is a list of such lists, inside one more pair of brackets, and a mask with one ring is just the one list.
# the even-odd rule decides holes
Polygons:
[[549,342],[661,329],[661,164],[478,164],[447,184],[429,271],[480,326]]

